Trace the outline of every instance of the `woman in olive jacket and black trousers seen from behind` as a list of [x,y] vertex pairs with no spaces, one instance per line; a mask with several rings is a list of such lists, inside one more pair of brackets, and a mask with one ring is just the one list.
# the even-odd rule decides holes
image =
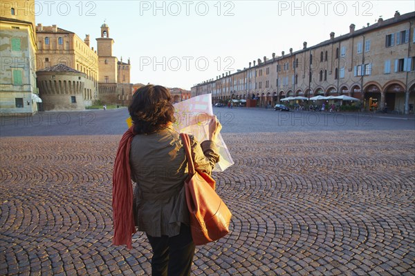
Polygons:
[[[129,164],[136,182],[136,225],[153,250],[152,275],[190,275],[194,243],[185,202],[185,149],[172,128],[174,107],[169,90],[143,86],[129,106],[133,121]],[[210,174],[219,161],[215,140],[221,124],[209,121],[209,140],[199,144],[190,135],[195,168]],[[120,143],[121,144],[121,143]]]

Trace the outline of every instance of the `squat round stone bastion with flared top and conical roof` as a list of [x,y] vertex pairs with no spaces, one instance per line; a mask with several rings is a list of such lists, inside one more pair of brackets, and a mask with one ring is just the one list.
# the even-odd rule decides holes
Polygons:
[[62,63],[36,72],[44,110],[84,110],[87,76]]

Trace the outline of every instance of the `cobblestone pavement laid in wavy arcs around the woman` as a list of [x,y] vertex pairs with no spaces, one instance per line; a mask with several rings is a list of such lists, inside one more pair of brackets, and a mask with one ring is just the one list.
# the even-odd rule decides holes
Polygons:
[[[223,133],[231,233],[194,275],[415,275],[415,131]],[[149,275],[111,246],[120,135],[0,139],[0,275]]]

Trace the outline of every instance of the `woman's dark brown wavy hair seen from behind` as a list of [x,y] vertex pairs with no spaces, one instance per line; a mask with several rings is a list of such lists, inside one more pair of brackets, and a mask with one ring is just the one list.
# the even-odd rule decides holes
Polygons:
[[142,86],[134,92],[128,107],[137,134],[149,134],[174,123],[174,107],[169,90],[163,86]]

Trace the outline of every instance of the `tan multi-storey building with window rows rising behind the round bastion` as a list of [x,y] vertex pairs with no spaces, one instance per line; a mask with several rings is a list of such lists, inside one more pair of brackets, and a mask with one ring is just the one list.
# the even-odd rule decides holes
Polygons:
[[[37,24],[37,70],[64,64],[86,75],[84,106],[91,106],[98,99],[98,55],[90,47],[89,34],[84,40],[74,32],[53,26]],[[79,99],[80,100],[80,99]],[[52,103],[51,103],[52,104]],[[50,105],[49,105],[50,106]],[[68,109],[72,109],[68,106]]]

